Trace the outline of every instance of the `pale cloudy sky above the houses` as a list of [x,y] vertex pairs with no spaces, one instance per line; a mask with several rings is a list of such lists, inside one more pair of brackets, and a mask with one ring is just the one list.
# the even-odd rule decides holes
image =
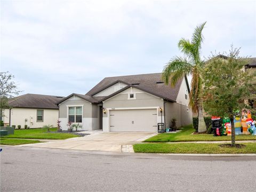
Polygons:
[[0,1],[1,72],[20,94],[85,94],[110,76],[160,73],[203,30],[202,59],[256,57],[256,1]]

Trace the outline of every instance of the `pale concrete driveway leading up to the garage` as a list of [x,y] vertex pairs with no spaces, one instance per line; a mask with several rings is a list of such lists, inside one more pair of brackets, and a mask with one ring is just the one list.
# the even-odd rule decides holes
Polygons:
[[123,145],[132,145],[152,137],[153,132],[98,132],[79,138],[66,140],[54,140],[45,143],[23,145],[28,147],[76,149],[76,150],[99,150],[121,152]]

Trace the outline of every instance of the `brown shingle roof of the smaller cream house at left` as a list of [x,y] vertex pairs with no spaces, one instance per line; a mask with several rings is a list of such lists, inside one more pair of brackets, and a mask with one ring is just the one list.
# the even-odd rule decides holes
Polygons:
[[28,93],[11,99],[9,105],[18,108],[59,109],[56,103],[63,98],[61,96]]

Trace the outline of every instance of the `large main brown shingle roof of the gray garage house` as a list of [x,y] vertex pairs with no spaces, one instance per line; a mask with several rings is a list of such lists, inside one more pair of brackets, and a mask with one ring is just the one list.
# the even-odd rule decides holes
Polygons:
[[115,94],[124,91],[128,87],[135,87],[142,91],[156,95],[157,97],[175,102],[182,80],[183,78],[179,79],[177,84],[174,87],[171,87],[170,85],[165,85],[163,83],[162,73],[106,77],[100,83],[95,85],[89,92],[87,92],[86,95],[93,97],[94,94],[105,90],[107,87],[114,85],[117,82],[122,82],[127,84],[127,86],[111,95],[108,95],[107,97],[101,97],[99,101],[113,97]]

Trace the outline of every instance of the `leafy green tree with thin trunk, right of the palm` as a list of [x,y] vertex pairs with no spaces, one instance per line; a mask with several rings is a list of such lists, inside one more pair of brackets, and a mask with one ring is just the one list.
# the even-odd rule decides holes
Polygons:
[[239,49],[231,46],[227,58],[213,57],[202,70],[204,110],[231,119],[231,146],[235,146],[234,111],[248,108],[244,101],[252,98],[256,89],[256,73],[244,70],[246,62],[239,57]]

